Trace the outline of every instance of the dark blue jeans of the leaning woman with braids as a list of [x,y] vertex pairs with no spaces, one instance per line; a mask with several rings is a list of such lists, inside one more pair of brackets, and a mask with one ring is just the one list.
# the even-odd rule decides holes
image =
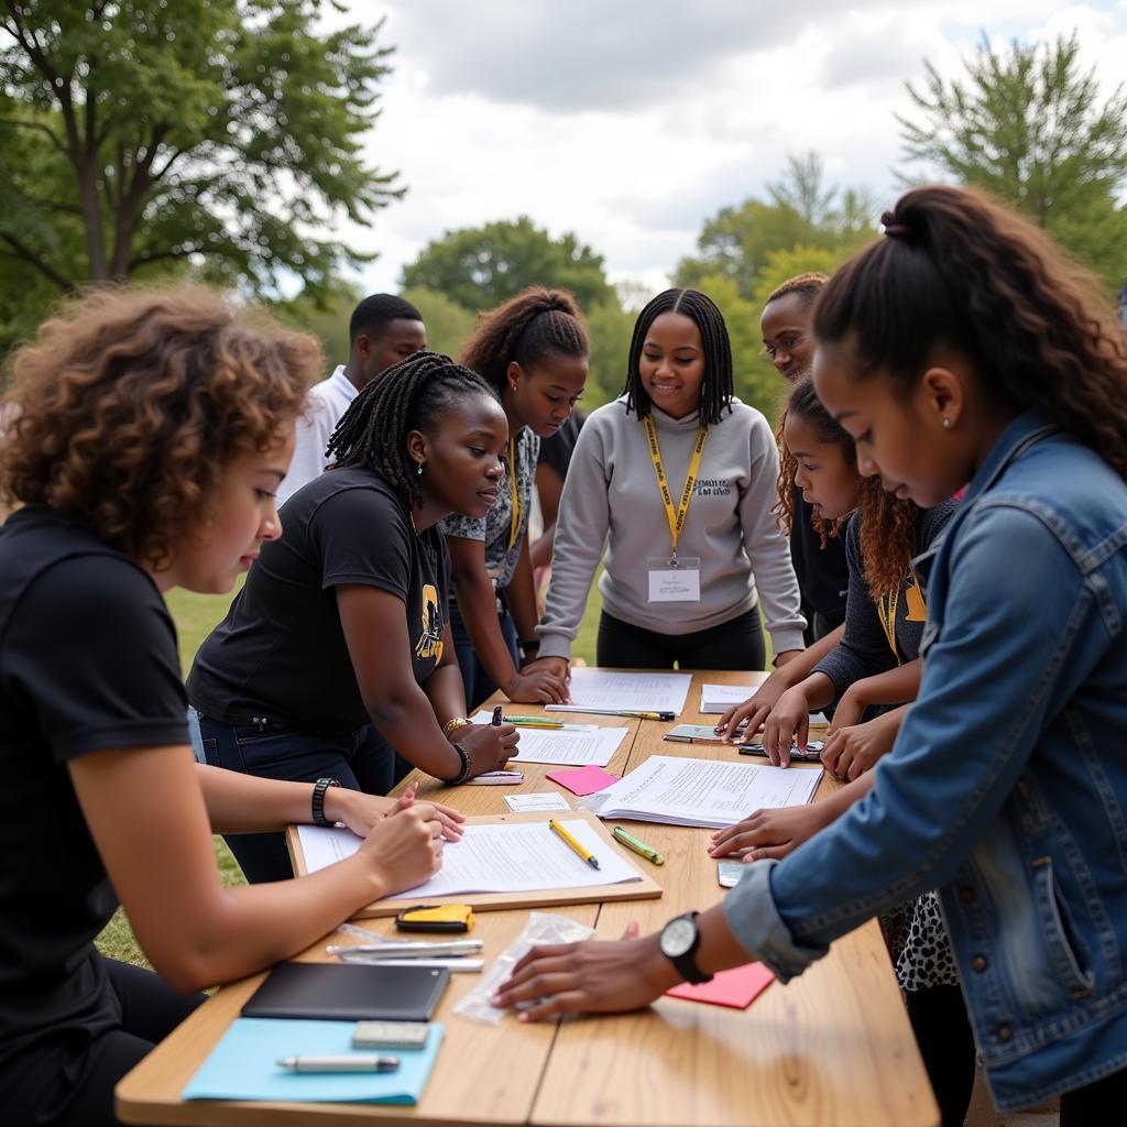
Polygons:
[[[410,770],[370,724],[346,736],[316,736],[274,720],[230,725],[201,715],[199,735],[212,766],[260,779],[309,783],[336,779],[352,790],[387,795]],[[293,876],[284,834],[224,834],[223,840],[250,884]]]

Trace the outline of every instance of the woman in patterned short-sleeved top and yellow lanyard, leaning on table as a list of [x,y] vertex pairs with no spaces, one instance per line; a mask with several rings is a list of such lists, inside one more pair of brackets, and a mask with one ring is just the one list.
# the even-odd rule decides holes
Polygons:
[[500,397],[508,419],[506,476],[497,504],[481,517],[442,522],[456,601],[450,604],[454,649],[470,711],[500,687],[511,701],[561,704],[567,683],[535,656],[536,592],[527,518],[540,440],[567,421],[587,381],[587,334],[575,299],[530,286],[486,313],[462,349],[463,363]]

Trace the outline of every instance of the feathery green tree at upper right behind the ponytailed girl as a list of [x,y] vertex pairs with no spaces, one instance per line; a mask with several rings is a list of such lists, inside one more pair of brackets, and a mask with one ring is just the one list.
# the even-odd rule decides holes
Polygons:
[[[1127,94],[1100,103],[1075,35],[1053,44],[984,35],[967,77],[946,81],[926,64],[908,83],[917,121],[897,117],[911,161],[985,188],[1022,211],[1112,285],[1127,276]],[[907,179],[907,177],[902,177]]]

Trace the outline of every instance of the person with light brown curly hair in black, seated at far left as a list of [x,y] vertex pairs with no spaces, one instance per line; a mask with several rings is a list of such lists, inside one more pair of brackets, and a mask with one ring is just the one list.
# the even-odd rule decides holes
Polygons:
[[[0,1107],[116,1124],[114,1085],[204,999],[437,871],[458,815],[196,764],[163,594],[230,589],[320,364],[203,289],[103,290],[10,360],[0,449]],[[212,833],[318,810],[365,837],[299,880],[224,888]],[[94,947],[121,903],[157,974]]]

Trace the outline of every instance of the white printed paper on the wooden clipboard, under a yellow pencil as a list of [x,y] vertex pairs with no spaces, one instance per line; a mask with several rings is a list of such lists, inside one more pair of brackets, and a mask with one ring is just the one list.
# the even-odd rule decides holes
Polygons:
[[[443,848],[442,869],[403,891],[426,899],[455,893],[534,893],[641,880],[638,870],[582,818],[561,818],[560,824],[595,855],[600,869],[574,853],[547,822],[465,826],[459,841]],[[310,872],[350,857],[361,844],[350,829],[299,826],[298,833]]]

